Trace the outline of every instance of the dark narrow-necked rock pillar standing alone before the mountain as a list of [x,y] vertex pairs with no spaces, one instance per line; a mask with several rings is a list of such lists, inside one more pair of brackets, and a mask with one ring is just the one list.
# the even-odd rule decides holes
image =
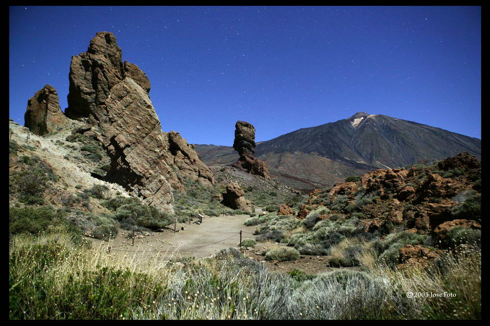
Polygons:
[[240,154],[238,161],[232,164],[233,167],[270,180],[269,168],[266,163],[253,156],[255,153],[255,128],[253,125],[245,121],[237,121],[233,148]]

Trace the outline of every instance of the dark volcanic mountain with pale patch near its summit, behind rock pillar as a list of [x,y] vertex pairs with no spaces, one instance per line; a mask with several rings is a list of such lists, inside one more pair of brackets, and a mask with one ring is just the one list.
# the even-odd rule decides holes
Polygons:
[[[232,147],[196,145],[208,166],[236,161]],[[481,159],[481,140],[416,122],[358,112],[258,142],[255,155],[273,179],[296,189],[332,186],[346,176],[441,160],[466,151]]]

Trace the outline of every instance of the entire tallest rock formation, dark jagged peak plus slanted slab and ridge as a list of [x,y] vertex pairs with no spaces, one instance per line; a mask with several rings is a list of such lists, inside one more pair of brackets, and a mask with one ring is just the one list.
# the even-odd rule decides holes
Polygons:
[[185,179],[206,186],[214,179],[179,133],[162,131],[149,90],[145,73],[123,64],[116,37],[98,32],[87,52],[72,57],[66,114],[98,125],[95,137],[111,158],[107,181],[173,213],[172,190],[182,190]]

